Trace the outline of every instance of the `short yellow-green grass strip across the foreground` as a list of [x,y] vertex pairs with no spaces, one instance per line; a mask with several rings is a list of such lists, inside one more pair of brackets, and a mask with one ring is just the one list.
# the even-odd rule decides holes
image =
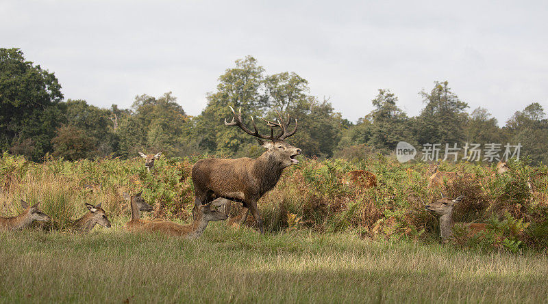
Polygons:
[[267,234],[210,225],[202,238],[0,232],[1,303],[540,303],[545,254]]

